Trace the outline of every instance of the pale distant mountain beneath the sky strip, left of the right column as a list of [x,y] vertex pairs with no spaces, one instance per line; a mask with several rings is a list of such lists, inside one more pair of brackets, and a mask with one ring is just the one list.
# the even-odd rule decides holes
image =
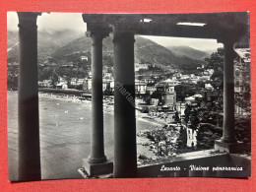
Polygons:
[[197,50],[190,46],[168,46],[167,48],[176,55],[186,56],[192,59],[204,60],[204,58],[210,57],[208,52]]

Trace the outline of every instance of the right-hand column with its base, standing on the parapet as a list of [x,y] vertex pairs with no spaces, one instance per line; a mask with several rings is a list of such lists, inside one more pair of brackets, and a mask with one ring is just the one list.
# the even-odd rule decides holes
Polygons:
[[215,141],[215,149],[228,153],[237,153],[243,149],[242,143],[237,143],[234,129],[234,67],[235,52],[230,37],[225,36],[224,43],[224,124],[223,138]]

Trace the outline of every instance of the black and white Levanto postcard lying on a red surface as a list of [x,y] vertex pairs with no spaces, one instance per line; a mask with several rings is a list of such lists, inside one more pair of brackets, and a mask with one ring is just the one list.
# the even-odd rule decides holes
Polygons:
[[250,177],[249,12],[7,13],[10,181]]

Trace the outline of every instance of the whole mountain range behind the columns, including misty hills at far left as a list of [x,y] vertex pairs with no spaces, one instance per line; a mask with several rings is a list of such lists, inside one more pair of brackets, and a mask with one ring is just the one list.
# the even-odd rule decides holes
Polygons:
[[[80,58],[80,55],[91,57],[92,40],[75,31],[49,32],[38,31],[38,60],[45,61],[52,57],[56,63],[65,63]],[[19,60],[18,32],[8,32],[8,62]],[[203,61],[189,57],[177,56],[160,44],[139,35],[135,36],[135,63],[148,63],[170,69],[196,69]],[[91,58],[90,58],[91,59]],[[103,39],[103,64],[113,65],[112,37]]]

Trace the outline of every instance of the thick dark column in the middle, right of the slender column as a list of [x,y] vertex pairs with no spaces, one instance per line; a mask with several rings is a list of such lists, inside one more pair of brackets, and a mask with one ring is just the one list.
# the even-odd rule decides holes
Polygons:
[[137,175],[134,33],[114,32],[114,177]]

